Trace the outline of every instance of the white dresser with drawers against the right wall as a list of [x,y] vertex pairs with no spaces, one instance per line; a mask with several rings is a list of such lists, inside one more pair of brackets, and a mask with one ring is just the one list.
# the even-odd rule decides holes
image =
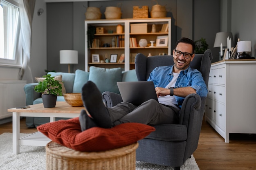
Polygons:
[[256,133],[256,60],[211,64],[205,119],[229,143],[229,133]]

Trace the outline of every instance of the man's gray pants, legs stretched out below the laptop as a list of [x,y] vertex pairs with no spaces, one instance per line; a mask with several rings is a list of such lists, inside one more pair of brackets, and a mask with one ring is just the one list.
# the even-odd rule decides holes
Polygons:
[[177,124],[180,110],[172,106],[164,106],[156,100],[150,99],[140,106],[121,102],[108,108],[108,112],[113,127],[128,122],[152,125]]

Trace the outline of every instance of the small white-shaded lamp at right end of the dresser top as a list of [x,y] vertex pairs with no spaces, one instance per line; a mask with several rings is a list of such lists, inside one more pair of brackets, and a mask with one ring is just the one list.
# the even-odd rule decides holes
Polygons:
[[251,52],[251,41],[238,41],[237,52],[240,53],[239,59],[249,59],[251,56],[246,52]]

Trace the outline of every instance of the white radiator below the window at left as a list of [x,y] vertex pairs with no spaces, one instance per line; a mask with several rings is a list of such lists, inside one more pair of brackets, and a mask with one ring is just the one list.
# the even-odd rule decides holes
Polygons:
[[0,80],[0,119],[11,117],[8,108],[26,105],[25,80]]

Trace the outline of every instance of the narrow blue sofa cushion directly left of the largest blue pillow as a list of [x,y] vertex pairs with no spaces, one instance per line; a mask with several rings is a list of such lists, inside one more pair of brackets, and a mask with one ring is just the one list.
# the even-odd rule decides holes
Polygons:
[[73,93],[82,93],[83,85],[88,82],[89,72],[76,70],[76,76],[74,80]]

